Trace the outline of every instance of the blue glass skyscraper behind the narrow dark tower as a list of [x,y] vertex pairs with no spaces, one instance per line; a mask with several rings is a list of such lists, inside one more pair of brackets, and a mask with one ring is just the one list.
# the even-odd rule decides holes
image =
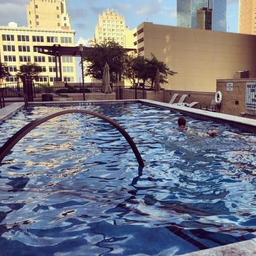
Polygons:
[[212,30],[227,31],[227,0],[177,0],[177,26],[197,28],[197,11],[212,9]]

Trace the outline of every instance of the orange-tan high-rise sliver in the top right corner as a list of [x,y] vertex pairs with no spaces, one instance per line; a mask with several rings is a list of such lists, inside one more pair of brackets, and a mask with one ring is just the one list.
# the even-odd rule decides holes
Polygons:
[[256,1],[239,0],[238,32],[256,34]]

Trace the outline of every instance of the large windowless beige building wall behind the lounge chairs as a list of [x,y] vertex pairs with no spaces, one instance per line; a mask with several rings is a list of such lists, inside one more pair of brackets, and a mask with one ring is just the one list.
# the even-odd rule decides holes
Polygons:
[[134,41],[140,53],[150,57],[151,52],[164,61],[175,76],[168,77],[162,87],[172,90],[215,92],[216,79],[235,77],[237,70],[251,70],[256,77],[256,37],[236,33],[177,28],[144,22]]

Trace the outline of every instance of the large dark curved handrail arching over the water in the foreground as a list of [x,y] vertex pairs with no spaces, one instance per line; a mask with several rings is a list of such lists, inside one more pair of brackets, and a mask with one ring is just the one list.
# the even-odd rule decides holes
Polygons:
[[131,146],[132,151],[133,151],[134,155],[136,156],[136,159],[138,161],[139,166],[141,168],[144,167],[143,159],[142,159],[142,157],[140,155],[140,152],[139,152],[138,148],[136,147],[136,144],[134,143],[132,138],[129,136],[129,134],[125,131],[125,129],[121,125],[117,124],[111,118],[108,118],[108,116],[104,116],[102,114],[99,114],[99,113],[96,113],[96,112],[93,112],[93,111],[83,110],[83,109],[67,109],[67,110],[57,111],[57,112],[51,113],[49,115],[42,116],[42,117],[40,117],[40,118],[30,122],[29,124],[25,125],[24,127],[22,127],[22,129],[17,131],[11,138],[9,138],[6,141],[6,143],[4,143],[4,145],[0,148],[0,163],[2,162],[4,157],[10,152],[10,150],[26,134],[28,134],[29,131],[33,130],[38,125],[43,124],[47,120],[50,120],[50,119],[52,119],[52,118],[54,118],[56,116],[65,115],[65,114],[69,114],[69,113],[85,113],[85,114],[88,114],[88,115],[97,116],[97,117],[105,120],[109,124],[113,125],[113,127],[115,127],[118,131],[121,132],[121,134],[124,136],[124,138],[127,140],[129,145]]

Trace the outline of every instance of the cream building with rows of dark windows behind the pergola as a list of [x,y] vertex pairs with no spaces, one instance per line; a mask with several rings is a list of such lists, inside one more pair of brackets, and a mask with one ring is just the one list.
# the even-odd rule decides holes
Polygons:
[[[56,81],[55,57],[41,54],[36,46],[61,44],[74,46],[75,31],[61,29],[38,29],[18,27],[15,22],[9,26],[0,27],[0,62],[8,65],[8,70],[13,77],[6,77],[7,82],[16,80],[20,65],[35,62],[42,67],[38,82],[52,84]],[[76,82],[76,58],[62,56],[63,81]],[[59,67],[58,67],[59,68]]]

